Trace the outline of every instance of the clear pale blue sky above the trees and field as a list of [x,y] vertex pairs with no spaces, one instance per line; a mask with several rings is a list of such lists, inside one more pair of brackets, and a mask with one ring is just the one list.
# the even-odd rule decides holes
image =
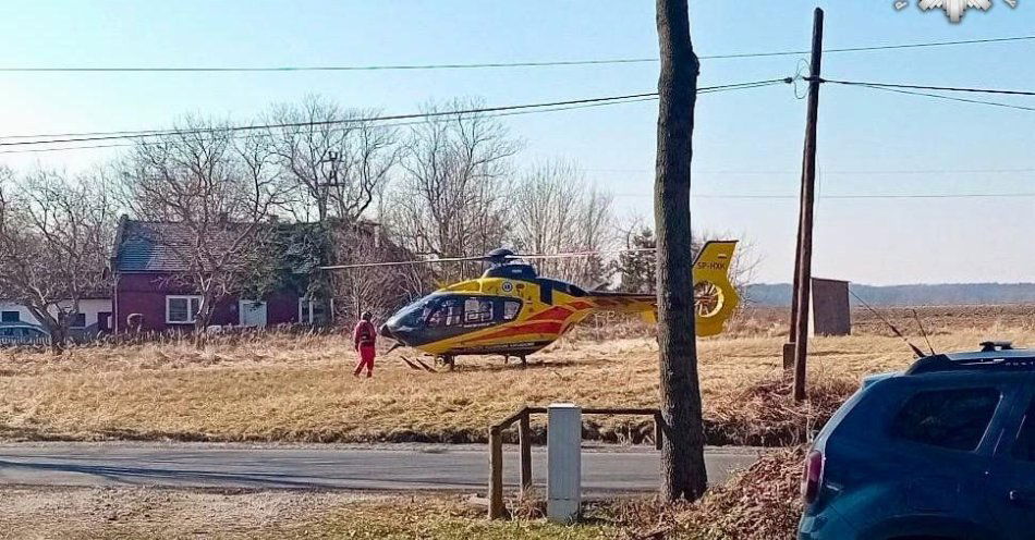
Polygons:
[[[915,3],[915,0],[911,3]],[[890,0],[827,0],[827,47],[1035,34],[1035,4],[896,12]],[[691,1],[701,54],[808,46],[814,1]],[[506,62],[657,54],[648,0],[13,1],[0,7],[3,66],[219,66]],[[880,82],[1035,88],[1035,42],[828,54],[825,75]],[[703,85],[794,74],[800,59],[706,61]],[[322,94],[349,107],[411,112],[429,99],[510,105],[652,91],[656,64],[470,71],[216,74],[0,74],[0,135],[151,128],[186,112],[247,119]],[[1035,112],[824,87],[821,195],[1035,193]],[[1023,101],[1027,99],[1027,101]],[[1014,102],[1035,106],[1035,98]],[[694,191],[794,195],[804,101],[791,88],[702,96]],[[508,119],[522,160],[567,157],[617,194],[622,216],[652,212],[657,106]],[[110,150],[0,155],[15,168],[77,170]],[[751,172],[752,174],[744,174]],[[854,172],[854,173],[853,173]],[[698,229],[750,238],[757,278],[789,281],[793,199],[694,201]],[[815,273],[862,283],[1035,281],[1035,198],[820,199]]]

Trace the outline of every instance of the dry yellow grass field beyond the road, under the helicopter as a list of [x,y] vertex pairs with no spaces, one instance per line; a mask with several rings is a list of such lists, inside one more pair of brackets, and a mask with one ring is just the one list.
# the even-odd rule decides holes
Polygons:
[[[988,338],[1035,343],[1033,308],[925,308],[939,351]],[[903,331],[912,315],[890,310]],[[701,341],[709,441],[792,444],[857,388],[861,377],[901,369],[905,345],[872,318],[856,335],[813,342],[813,401],[792,406],[780,381],[782,310],[756,310],[723,338]],[[580,330],[526,369],[499,358],[462,358],[454,372],[410,369],[397,353],[375,378],[355,379],[340,336],[269,335],[197,347],[186,341],[45,352],[0,351],[0,437],[194,441],[483,441],[521,406],[654,406],[657,346],[642,329]],[[915,332],[913,332],[915,333]],[[609,335],[614,335],[609,339]],[[915,340],[917,344],[922,339]],[[405,354],[405,353],[404,353]],[[642,420],[593,418],[587,437],[641,442]]]

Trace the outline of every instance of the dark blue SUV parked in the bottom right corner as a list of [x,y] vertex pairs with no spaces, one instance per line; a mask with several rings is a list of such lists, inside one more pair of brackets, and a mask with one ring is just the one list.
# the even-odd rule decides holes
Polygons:
[[816,438],[800,540],[1035,538],[1035,351],[869,377]]

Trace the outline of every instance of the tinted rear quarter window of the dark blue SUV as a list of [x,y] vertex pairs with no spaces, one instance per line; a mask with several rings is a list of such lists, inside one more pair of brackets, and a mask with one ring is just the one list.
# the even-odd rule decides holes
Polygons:
[[896,415],[891,435],[949,450],[977,449],[999,404],[994,388],[918,392]]

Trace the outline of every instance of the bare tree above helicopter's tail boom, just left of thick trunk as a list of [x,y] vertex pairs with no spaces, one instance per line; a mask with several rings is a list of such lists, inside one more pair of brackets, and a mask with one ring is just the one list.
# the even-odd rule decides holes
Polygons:
[[[513,192],[511,235],[523,251],[598,251],[613,243],[610,194],[589,185],[573,163],[538,163]],[[589,285],[601,283],[608,273],[601,255],[545,260],[539,267],[544,273]]]

